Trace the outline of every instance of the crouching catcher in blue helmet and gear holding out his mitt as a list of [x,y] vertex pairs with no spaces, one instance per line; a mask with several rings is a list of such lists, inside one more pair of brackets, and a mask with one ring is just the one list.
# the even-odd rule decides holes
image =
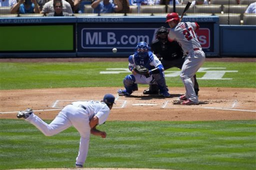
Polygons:
[[129,70],[132,74],[124,78],[124,90],[118,90],[119,96],[129,96],[138,90],[138,84],[156,84],[159,95],[170,97],[164,78],[164,67],[146,42],[140,42],[129,58]]

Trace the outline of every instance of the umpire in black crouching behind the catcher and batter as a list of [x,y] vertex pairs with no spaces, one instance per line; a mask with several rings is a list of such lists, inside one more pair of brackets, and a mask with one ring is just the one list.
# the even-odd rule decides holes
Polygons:
[[[168,29],[164,26],[160,27],[156,32],[156,40],[151,44],[151,50],[159,58],[164,66],[164,70],[172,67],[182,68],[185,61],[183,51],[177,41],[168,41]],[[199,86],[194,76],[194,89],[198,96]],[[149,89],[144,90],[143,94],[158,94],[158,86],[154,84],[149,85]]]

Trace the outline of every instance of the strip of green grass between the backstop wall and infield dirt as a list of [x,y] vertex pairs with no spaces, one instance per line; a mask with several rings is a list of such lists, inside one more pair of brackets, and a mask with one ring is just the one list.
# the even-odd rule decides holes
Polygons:
[[[107,68],[127,68],[128,62],[98,63],[0,63],[0,89],[34,89],[61,87],[120,87],[129,73],[100,74]],[[202,67],[238,70],[223,78],[232,80],[198,80],[200,87],[256,87],[255,63],[205,62]],[[169,69],[179,70],[176,68]],[[216,69],[211,69],[216,70]],[[197,78],[205,73],[198,72]],[[166,78],[169,87],[183,87],[180,77]],[[141,86],[141,85],[140,85]]]

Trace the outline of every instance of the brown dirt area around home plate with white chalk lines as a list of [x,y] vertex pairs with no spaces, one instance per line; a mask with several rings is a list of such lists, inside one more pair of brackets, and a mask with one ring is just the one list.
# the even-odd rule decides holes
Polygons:
[[[118,87],[2,90],[0,118],[16,119],[16,113],[32,107],[43,119],[54,119],[60,109],[77,100],[101,100],[105,93],[116,96],[108,121],[207,121],[256,118],[254,88],[200,88],[199,105],[175,102],[184,88],[170,88],[171,98],[143,95],[144,88],[130,97],[117,96]],[[29,95],[28,95],[29,94]]]

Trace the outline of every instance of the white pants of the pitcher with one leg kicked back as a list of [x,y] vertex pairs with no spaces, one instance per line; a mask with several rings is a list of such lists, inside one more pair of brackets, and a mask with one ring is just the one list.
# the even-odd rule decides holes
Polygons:
[[25,120],[36,126],[36,128],[39,129],[45,136],[56,135],[73,125],[81,135],[76,164],[84,165],[84,161],[86,160],[88,154],[91,131],[89,125],[90,120],[86,110],[81,107],[67,105],[60,111],[60,113],[50,124],[45,123],[42,119],[34,114],[31,114]]

